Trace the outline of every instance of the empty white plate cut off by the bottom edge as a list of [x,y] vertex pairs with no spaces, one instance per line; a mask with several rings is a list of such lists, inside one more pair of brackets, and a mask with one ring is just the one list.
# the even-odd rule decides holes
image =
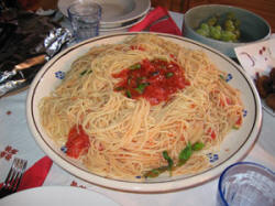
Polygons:
[[1,206],[119,206],[111,198],[76,186],[43,186],[0,199]]

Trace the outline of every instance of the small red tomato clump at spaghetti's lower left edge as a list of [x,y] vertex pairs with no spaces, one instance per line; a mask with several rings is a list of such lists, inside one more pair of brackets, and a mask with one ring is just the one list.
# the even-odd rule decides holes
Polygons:
[[81,126],[75,126],[69,130],[66,142],[67,155],[78,159],[79,155],[88,152],[90,147],[89,137],[85,133]]

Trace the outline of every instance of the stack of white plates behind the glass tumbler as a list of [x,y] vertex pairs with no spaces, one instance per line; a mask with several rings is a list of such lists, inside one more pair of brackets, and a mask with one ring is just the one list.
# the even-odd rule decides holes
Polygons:
[[68,17],[67,8],[75,1],[92,1],[101,6],[100,35],[128,31],[141,22],[151,8],[150,0],[59,0],[58,9]]

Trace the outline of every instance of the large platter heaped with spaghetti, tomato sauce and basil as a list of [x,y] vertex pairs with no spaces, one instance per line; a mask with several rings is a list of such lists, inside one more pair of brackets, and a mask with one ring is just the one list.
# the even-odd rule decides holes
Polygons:
[[26,115],[56,164],[89,183],[142,193],[219,176],[246,155],[262,126],[257,91],[238,64],[161,33],[66,48],[32,82]]

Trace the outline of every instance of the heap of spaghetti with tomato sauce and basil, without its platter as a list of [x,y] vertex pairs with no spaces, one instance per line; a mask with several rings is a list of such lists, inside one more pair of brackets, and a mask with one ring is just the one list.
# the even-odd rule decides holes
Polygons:
[[242,123],[240,93],[224,77],[201,51],[139,34],[76,59],[40,102],[41,120],[92,173],[197,173],[209,166],[205,151]]

